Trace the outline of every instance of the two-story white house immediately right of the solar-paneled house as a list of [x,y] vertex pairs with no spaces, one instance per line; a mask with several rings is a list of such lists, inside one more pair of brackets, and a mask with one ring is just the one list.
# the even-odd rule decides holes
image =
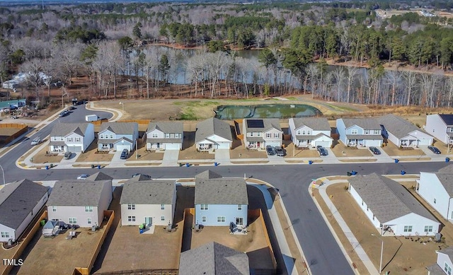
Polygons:
[[297,147],[332,147],[331,126],[325,117],[290,118],[289,134]]

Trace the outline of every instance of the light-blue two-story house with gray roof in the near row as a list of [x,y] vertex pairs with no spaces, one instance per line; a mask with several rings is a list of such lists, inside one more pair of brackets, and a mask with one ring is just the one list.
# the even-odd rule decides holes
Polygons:
[[213,172],[195,176],[195,223],[203,226],[247,226],[248,194],[243,178]]

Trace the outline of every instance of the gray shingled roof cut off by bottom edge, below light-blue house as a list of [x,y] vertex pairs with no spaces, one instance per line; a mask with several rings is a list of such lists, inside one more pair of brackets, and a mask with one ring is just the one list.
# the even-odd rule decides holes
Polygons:
[[249,275],[246,253],[209,242],[180,254],[179,275]]

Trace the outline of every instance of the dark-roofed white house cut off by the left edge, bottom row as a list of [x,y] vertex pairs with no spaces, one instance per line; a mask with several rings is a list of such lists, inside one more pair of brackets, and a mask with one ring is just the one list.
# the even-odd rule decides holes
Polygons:
[[0,242],[15,242],[49,197],[49,187],[18,180],[0,189]]

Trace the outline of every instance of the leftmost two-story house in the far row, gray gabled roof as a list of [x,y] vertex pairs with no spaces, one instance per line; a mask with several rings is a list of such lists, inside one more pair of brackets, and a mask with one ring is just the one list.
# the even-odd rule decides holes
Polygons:
[[50,132],[50,152],[85,152],[94,141],[91,123],[57,123]]

